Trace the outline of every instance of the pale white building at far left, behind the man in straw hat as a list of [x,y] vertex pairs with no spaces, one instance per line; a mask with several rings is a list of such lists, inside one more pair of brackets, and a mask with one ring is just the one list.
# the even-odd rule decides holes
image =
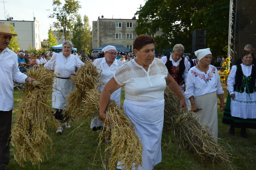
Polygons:
[[14,26],[14,30],[17,31],[18,34],[17,38],[19,38],[20,50],[23,49],[26,51],[29,44],[31,44],[32,48],[41,48],[41,27],[35,17],[33,21],[15,21],[10,17],[10,19],[7,20],[0,20],[0,24],[11,24]]

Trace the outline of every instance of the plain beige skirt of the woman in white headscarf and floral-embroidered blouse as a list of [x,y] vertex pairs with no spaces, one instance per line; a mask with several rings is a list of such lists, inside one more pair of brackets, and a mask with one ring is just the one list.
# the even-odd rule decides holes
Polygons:
[[[202,96],[195,97],[195,104],[198,108],[202,108],[194,113],[196,118],[202,125],[209,127],[209,133],[218,142],[218,110],[217,110],[217,93],[207,93]],[[189,101],[189,109],[191,110],[191,103]]]

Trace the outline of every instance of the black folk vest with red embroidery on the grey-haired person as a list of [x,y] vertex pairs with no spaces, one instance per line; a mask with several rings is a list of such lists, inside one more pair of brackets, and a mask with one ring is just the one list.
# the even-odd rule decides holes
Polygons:
[[166,56],[167,62],[165,63],[165,66],[167,67],[169,74],[174,78],[178,85],[183,85],[185,84],[184,78],[182,77],[185,71],[185,58],[181,57],[182,59],[180,60],[179,65],[175,67],[170,60],[171,56],[172,55]]

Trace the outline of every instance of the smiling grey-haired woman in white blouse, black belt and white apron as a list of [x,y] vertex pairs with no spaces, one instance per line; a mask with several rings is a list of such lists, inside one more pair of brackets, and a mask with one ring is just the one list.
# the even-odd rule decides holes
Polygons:
[[[54,73],[58,73],[54,81],[52,92],[52,107],[55,108],[55,118],[59,121],[59,127],[56,133],[62,133],[62,123],[65,117],[62,114],[63,109],[67,107],[66,98],[74,88],[74,82],[69,80],[70,74],[75,74],[76,67],[79,68],[84,63],[74,55],[71,55],[72,42],[64,41],[62,43],[62,53],[54,53],[51,60],[49,60],[45,67],[49,70],[54,70]],[[68,122],[66,122],[66,128],[70,128]]]

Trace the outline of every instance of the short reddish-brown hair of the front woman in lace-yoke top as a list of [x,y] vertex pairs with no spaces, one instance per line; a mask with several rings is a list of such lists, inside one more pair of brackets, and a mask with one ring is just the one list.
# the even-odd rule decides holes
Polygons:
[[133,41],[133,52],[134,49],[140,51],[145,45],[147,44],[154,44],[155,45],[155,40],[153,37],[150,35],[140,35],[135,38]]

